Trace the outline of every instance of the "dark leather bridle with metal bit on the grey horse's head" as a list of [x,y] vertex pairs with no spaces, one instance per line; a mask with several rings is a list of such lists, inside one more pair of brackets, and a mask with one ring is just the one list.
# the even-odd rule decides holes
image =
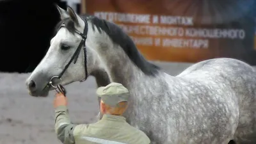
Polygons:
[[[66,94],[65,88],[63,86],[61,86],[61,84],[58,84],[57,86],[55,86],[53,84],[53,80],[54,79],[60,79],[60,81],[61,81],[61,76],[63,76],[63,74],[65,73],[65,71],[67,70],[69,65],[72,63],[72,61],[74,61],[74,64],[76,64],[77,59],[79,57],[79,54],[80,54],[80,51],[81,51],[83,45],[84,45],[84,70],[85,70],[85,77],[84,77],[84,79],[82,81],[85,81],[85,79],[88,77],[87,60],[86,60],[87,59],[87,56],[86,56],[86,45],[85,45],[85,41],[86,41],[87,33],[88,33],[88,23],[87,23],[87,20],[83,20],[83,21],[84,21],[84,31],[83,31],[83,33],[80,33],[77,29],[75,30],[75,33],[77,33],[78,35],[80,35],[82,37],[82,40],[79,43],[76,51],[74,52],[73,56],[70,58],[70,61],[68,61],[67,65],[65,65],[64,69],[59,74],[59,76],[51,77],[49,83],[45,86],[45,88],[46,87],[50,88],[52,86],[53,88],[55,88],[56,92],[58,92],[58,93],[61,92],[61,93],[63,93],[63,95]],[[61,25],[60,28],[63,28],[63,27],[65,27],[64,24]],[[82,81],[80,81],[80,82],[82,82]]]

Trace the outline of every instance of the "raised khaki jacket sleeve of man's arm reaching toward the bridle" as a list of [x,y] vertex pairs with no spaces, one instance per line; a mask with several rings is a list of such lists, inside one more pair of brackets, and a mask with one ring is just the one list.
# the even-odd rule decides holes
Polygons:
[[55,109],[55,132],[58,139],[64,144],[75,144],[75,127],[70,122],[67,106],[58,106]]

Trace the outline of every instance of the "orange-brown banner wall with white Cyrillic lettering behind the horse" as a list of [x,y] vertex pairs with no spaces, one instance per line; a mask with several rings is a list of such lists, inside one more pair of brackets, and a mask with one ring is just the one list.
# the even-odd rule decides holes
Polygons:
[[230,57],[256,64],[253,0],[86,0],[81,9],[121,26],[149,60]]

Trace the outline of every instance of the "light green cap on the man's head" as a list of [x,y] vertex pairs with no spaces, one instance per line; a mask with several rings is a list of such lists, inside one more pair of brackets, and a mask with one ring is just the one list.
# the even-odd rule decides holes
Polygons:
[[110,83],[107,86],[101,86],[96,91],[98,97],[109,106],[116,107],[119,102],[128,102],[129,91],[120,83]]

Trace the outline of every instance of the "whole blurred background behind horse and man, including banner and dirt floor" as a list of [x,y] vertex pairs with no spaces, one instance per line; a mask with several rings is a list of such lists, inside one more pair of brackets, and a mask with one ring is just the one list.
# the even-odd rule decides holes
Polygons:
[[[30,97],[25,86],[60,20],[53,3],[115,22],[145,58],[173,76],[211,58],[256,65],[255,0],[1,0],[0,144],[60,143],[53,94]],[[92,122],[98,112],[95,79],[66,88],[72,122]]]

